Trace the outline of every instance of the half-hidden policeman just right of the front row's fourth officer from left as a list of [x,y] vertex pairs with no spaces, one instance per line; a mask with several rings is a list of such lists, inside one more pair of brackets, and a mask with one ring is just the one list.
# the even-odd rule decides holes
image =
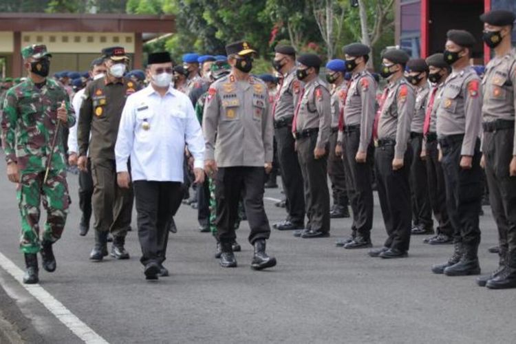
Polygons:
[[412,234],[433,234],[432,209],[428,197],[427,165],[421,159],[425,105],[429,96],[428,65],[423,58],[407,63],[407,81],[416,90],[416,108],[410,127],[412,164],[410,187],[412,193]]

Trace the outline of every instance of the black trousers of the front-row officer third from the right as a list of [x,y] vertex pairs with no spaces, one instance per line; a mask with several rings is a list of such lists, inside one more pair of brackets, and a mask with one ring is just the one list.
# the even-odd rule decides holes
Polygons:
[[412,149],[408,144],[403,167],[397,171],[392,169],[394,144],[377,147],[374,158],[378,197],[385,229],[389,235],[385,247],[406,252],[409,250],[411,234],[409,174]]

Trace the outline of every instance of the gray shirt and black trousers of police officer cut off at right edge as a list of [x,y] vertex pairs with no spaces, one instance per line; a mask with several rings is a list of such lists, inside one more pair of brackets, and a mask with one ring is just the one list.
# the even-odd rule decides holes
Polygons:
[[500,265],[506,259],[516,266],[516,178],[509,175],[510,160],[516,155],[515,99],[516,58],[495,57],[486,67],[482,81],[484,136],[482,152],[489,187],[489,199],[498,227]]

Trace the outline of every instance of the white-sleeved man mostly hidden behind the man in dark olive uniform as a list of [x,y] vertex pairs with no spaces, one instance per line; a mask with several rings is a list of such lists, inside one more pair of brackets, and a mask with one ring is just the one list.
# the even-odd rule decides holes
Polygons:
[[[106,74],[104,58],[95,58],[89,65],[89,78],[97,80]],[[85,88],[80,89],[72,100],[77,121],[73,127],[69,129],[68,134],[68,164],[74,166],[77,164],[77,123],[80,114],[80,105],[83,103],[83,95]],[[92,195],[93,195],[93,179],[92,179],[92,163],[87,163],[87,171],[79,171],[79,208],[83,215],[80,217],[79,235],[85,236],[89,230],[89,220],[92,218]]]

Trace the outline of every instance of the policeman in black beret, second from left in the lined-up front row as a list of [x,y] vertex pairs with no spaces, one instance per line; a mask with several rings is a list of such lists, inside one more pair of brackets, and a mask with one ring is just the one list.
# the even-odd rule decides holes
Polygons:
[[332,110],[330,92],[319,78],[321,58],[303,54],[297,59],[297,78],[305,83],[299,96],[292,133],[303,174],[306,214],[305,230],[294,232],[305,239],[330,236],[330,193],[327,186],[327,150]]

